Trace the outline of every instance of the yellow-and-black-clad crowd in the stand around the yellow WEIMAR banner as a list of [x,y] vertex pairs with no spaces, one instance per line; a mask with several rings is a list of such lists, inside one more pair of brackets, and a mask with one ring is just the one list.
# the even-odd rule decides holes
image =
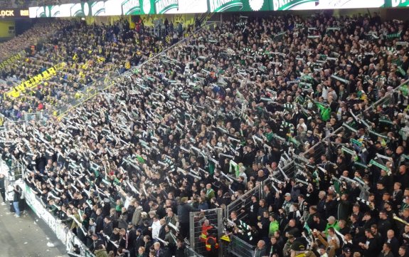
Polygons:
[[[35,26],[24,34],[26,36],[6,43],[4,48],[14,43],[16,51],[20,50],[22,38],[38,40],[38,30],[43,28]],[[90,90],[108,73],[123,73],[132,65],[159,53],[172,43],[167,39],[150,35],[143,26],[137,30],[130,29],[127,21],[119,21],[112,26],[65,23],[47,41],[37,43],[36,48],[26,49],[27,58],[1,69],[2,79],[14,81],[2,85],[2,92],[18,88],[18,84],[60,63],[65,63],[65,67],[17,97],[12,95],[2,99],[0,112],[11,120],[23,119],[24,113],[52,112],[81,98],[82,92]]]

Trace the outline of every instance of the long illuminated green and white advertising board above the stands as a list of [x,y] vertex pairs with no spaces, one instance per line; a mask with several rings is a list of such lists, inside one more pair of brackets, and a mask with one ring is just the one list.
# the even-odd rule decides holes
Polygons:
[[[31,7],[30,18],[409,6],[409,0],[107,0]],[[6,13],[5,13],[6,14]]]

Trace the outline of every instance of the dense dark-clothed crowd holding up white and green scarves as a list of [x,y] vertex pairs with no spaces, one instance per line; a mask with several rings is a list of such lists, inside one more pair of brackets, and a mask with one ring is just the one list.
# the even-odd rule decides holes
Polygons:
[[255,256],[408,256],[408,37],[376,14],[225,21],[62,120],[9,125],[2,157],[97,256],[185,256],[189,212],[269,177],[225,231]]

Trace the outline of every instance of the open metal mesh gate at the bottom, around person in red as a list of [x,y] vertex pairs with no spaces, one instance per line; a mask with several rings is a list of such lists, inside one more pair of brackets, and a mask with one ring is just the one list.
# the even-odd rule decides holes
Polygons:
[[[206,245],[201,238],[201,228],[203,222],[208,220],[211,225],[213,225],[218,231],[218,241],[219,246],[221,246],[218,251],[218,256],[223,256],[223,244],[220,243],[220,238],[223,231],[223,209],[210,209],[205,211],[191,212],[189,216],[190,223],[190,243],[191,248],[195,253],[199,255],[207,255]],[[215,256],[216,257],[216,256]]]

